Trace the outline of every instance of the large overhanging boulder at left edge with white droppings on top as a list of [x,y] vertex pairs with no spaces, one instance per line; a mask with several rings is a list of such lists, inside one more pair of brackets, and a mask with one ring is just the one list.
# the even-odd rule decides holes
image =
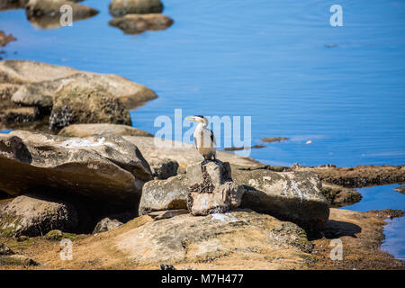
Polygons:
[[0,190],[18,195],[82,195],[92,202],[133,209],[151,172],[139,149],[117,135],[65,138],[23,130],[0,135]]

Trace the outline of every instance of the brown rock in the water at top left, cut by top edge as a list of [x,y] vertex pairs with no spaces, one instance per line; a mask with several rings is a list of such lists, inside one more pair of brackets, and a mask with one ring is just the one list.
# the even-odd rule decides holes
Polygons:
[[60,27],[60,19],[63,15],[60,8],[63,5],[71,7],[73,21],[87,19],[98,14],[98,11],[92,7],[66,0],[30,0],[25,5],[25,14],[34,26],[57,28]]

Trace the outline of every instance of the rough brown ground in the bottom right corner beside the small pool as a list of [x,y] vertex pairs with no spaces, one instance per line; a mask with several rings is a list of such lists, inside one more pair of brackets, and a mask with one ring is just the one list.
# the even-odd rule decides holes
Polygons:
[[[329,221],[323,237],[312,240],[314,245],[309,269],[317,270],[385,270],[405,269],[405,263],[381,250],[383,226],[387,217],[400,216],[403,211],[348,211],[330,209]],[[332,260],[331,251],[342,241],[342,260]],[[333,252],[332,252],[333,254]]]

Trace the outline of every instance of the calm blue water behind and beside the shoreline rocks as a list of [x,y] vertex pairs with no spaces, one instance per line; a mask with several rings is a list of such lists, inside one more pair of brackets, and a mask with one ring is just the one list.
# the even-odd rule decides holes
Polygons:
[[[159,97],[131,118],[152,133],[156,117],[173,119],[175,109],[184,117],[251,116],[252,145],[290,138],[252,150],[268,164],[404,164],[405,1],[340,0],[344,26],[331,27],[334,1],[164,0],[174,25],[140,35],[108,25],[109,2],[86,0],[100,14],[51,30],[33,27],[23,10],[2,12],[1,29],[18,40],[1,56],[147,85]],[[404,209],[391,188],[361,189],[364,200],[347,208]],[[398,257],[403,221],[385,227],[384,245],[398,248]]]

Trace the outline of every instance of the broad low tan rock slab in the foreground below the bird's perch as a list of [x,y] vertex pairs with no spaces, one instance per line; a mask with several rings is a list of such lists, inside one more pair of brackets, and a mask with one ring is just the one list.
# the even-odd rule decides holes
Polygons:
[[303,229],[249,210],[202,217],[184,214],[134,229],[125,229],[126,225],[130,223],[123,225],[118,235],[106,238],[134,266],[223,262],[229,258],[229,269],[246,269],[247,259],[253,263],[266,257],[266,269],[291,269],[302,266],[311,252]]

